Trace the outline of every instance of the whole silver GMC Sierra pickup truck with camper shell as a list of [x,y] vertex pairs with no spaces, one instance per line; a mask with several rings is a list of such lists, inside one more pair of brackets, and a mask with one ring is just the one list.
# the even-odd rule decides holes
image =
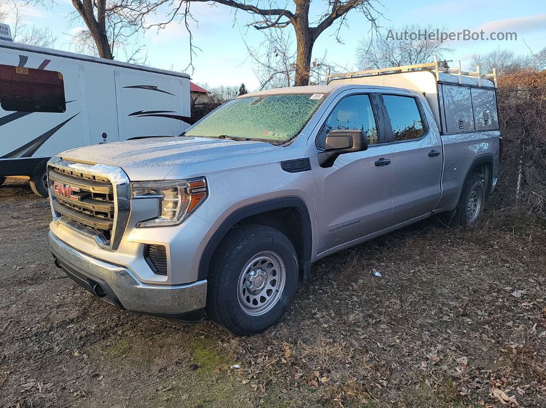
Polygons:
[[[396,77],[404,88],[366,82]],[[258,333],[318,259],[441,212],[473,227],[500,141],[484,77],[352,73],[251,93],[180,137],[52,157],[51,251],[120,309],[185,322],[206,310]]]

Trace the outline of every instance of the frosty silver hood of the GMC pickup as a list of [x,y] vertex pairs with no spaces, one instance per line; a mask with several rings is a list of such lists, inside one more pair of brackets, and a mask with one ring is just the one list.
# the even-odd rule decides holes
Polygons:
[[[159,137],[63,151],[63,159],[121,167],[132,180],[161,180],[171,169],[204,161],[282,149],[265,142],[204,137]],[[191,171],[188,172],[191,173]]]

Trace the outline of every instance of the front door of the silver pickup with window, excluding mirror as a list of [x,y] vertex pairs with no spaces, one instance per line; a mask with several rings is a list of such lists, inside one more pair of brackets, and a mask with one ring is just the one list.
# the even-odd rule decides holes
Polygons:
[[369,94],[345,96],[319,131],[319,150],[324,149],[327,133],[337,129],[363,130],[369,147],[338,156],[331,167],[313,169],[318,254],[393,225],[394,155],[383,143],[377,110]]

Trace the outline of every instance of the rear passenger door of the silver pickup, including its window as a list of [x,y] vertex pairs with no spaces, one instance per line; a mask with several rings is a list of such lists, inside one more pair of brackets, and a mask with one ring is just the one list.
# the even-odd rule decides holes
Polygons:
[[401,223],[432,211],[440,198],[442,142],[422,100],[383,94],[382,101],[395,163],[394,220]]

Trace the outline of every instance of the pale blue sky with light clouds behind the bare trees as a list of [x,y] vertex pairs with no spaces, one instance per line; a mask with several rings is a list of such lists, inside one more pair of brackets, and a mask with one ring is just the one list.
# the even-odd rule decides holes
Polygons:
[[[0,0],[5,2],[7,0]],[[10,0],[13,1],[13,0]],[[19,0],[16,0],[19,1]],[[290,4],[290,0],[288,0]],[[383,16],[381,26],[400,26],[411,23],[434,23],[438,27],[447,26],[449,31],[470,29],[489,32],[517,32],[517,41],[456,41],[452,46],[456,51],[449,59],[460,59],[465,66],[472,53],[485,53],[494,48],[508,48],[517,53],[538,52],[546,46],[546,2],[544,0],[462,0],[443,1],[425,0],[408,2],[407,0],[381,0],[377,5]],[[278,3],[281,5],[281,3]],[[257,46],[263,36],[255,29],[247,28],[251,16],[223,5],[195,3],[192,5],[198,25],[192,28],[195,45],[201,48],[194,57],[194,82],[208,83],[210,86],[247,84],[248,89],[258,86],[252,70],[253,65],[247,58],[243,38],[250,46]],[[70,36],[82,26],[81,21],[70,25],[70,13],[73,11],[70,0],[59,0],[51,8],[25,7],[25,21],[38,27],[48,26],[58,39],[55,48],[70,50]],[[311,15],[319,16],[324,2],[314,0],[311,3]],[[161,17],[156,17],[160,20]],[[292,31],[292,28],[284,28]],[[358,42],[370,35],[370,25],[362,14],[353,11],[348,18],[348,27],[342,28],[343,44],[338,44],[333,37],[335,28],[330,27],[317,40],[313,56],[322,57],[337,65],[351,69],[355,64],[355,50]],[[524,42],[525,41],[525,42]],[[149,31],[144,37],[147,47],[147,64],[163,69],[183,70],[189,62],[188,34],[182,24],[171,23],[165,29]],[[525,44],[526,43],[526,44]]]

